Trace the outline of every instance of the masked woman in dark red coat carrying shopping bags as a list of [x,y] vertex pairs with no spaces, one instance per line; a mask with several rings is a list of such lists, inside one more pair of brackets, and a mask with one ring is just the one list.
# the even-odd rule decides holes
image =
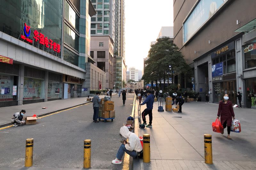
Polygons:
[[225,94],[223,99],[224,100],[221,100],[219,103],[217,119],[219,119],[220,117],[220,123],[223,126],[223,131],[221,134],[224,133],[224,129],[228,126],[227,128],[228,139],[231,139],[230,130],[231,130],[231,124],[232,124],[232,116],[233,116],[233,119],[235,119],[235,113],[233,110],[232,102],[228,100],[228,94]]

